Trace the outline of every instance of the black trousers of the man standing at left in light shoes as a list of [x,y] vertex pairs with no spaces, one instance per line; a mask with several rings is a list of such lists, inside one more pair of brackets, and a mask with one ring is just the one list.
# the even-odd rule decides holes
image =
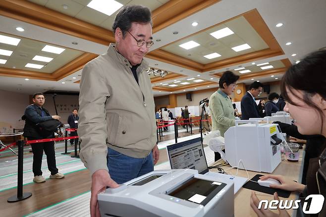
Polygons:
[[[48,138],[54,138],[54,135],[49,136]],[[27,137],[28,140],[35,139],[45,139],[40,137]],[[54,152],[54,142],[41,142],[31,144],[33,151],[33,173],[34,176],[42,175],[42,157],[43,151],[47,155],[48,168],[51,171],[51,175],[55,175],[58,172],[55,163],[55,152]]]

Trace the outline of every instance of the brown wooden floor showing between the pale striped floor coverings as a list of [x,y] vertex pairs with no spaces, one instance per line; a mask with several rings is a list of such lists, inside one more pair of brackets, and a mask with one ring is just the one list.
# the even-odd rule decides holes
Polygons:
[[[194,130],[198,134],[198,129]],[[164,135],[164,133],[163,133]],[[189,133],[179,132],[179,137],[189,136]],[[174,134],[165,135],[162,141],[174,139]],[[69,145],[68,145],[69,146]],[[26,148],[26,147],[25,147]],[[72,147],[69,146],[69,149]],[[57,148],[56,152],[64,152],[64,149]],[[71,153],[74,154],[74,153]],[[32,157],[32,153],[25,153],[24,158]],[[0,161],[7,161],[15,157],[2,157]],[[160,150],[160,160],[157,164],[167,161],[165,149]],[[47,178],[47,177],[45,177]],[[0,192],[0,212],[4,217],[22,217],[35,211],[47,208],[55,203],[89,191],[91,188],[91,177],[87,169],[66,174],[62,179],[47,179],[44,183],[31,183],[24,186],[24,192],[31,192],[33,195],[23,201],[8,203],[7,199],[17,194],[17,189],[9,189]]]

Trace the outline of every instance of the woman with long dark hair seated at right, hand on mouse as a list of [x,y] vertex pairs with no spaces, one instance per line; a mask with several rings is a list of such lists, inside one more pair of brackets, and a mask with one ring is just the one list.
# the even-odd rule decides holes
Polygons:
[[[326,137],[326,51],[309,54],[301,62],[291,66],[283,76],[281,84],[282,96],[286,100],[284,111],[294,118],[298,131],[304,135],[320,134]],[[319,158],[310,161],[312,174],[307,174],[307,185],[289,180],[281,175],[264,175],[261,180],[273,178],[280,185],[270,185],[272,188],[287,191],[298,191],[305,198],[311,194],[321,194],[326,197],[326,150]],[[277,193],[274,199],[279,200]],[[285,210],[279,214],[270,210],[258,210],[259,199],[252,192],[251,207],[259,217],[288,217]],[[299,211],[300,209],[298,209]],[[301,209],[302,210],[302,209]],[[326,217],[325,201],[319,217]]]

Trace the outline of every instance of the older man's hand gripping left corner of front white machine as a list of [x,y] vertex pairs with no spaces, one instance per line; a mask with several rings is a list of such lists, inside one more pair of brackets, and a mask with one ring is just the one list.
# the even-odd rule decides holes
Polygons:
[[91,217],[101,217],[99,204],[97,202],[97,195],[107,189],[119,187],[119,185],[113,181],[109,175],[108,170],[99,169],[92,175],[92,187],[91,187]]

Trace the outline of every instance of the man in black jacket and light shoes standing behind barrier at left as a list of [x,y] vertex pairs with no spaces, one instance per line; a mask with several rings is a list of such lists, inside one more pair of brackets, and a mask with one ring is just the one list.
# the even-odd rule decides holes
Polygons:
[[[25,126],[23,136],[27,137],[28,140],[36,139],[47,139],[54,138],[54,133],[50,135],[44,135],[38,126],[39,123],[56,119],[59,120],[58,115],[51,116],[47,109],[43,108],[45,97],[43,93],[33,94],[33,104],[29,105],[25,109]],[[54,152],[54,142],[42,142],[31,144],[33,151],[33,181],[36,183],[45,182],[45,178],[42,176],[42,157],[43,150],[47,155],[48,168],[51,171],[50,178],[63,178],[64,175],[58,172],[55,163],[55,152]]]

